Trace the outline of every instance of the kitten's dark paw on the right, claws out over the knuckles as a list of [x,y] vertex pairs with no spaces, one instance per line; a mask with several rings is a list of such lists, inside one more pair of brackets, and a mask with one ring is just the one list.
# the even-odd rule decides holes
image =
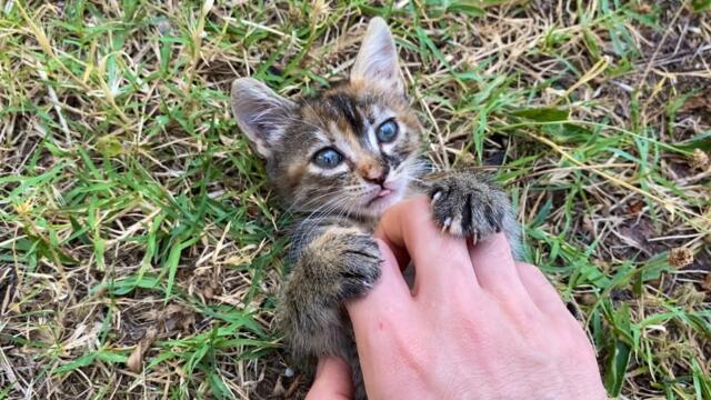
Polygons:
[[430,188],[432,214],[452,234],[474,240],[498,233],[511,214],[509,197],[488,177],[457,173]]

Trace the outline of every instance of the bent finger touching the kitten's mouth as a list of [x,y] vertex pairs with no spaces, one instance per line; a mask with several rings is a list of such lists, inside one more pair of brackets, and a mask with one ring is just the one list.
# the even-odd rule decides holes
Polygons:
[[410,254],[415,269],[415,296],[428,291],[441,297],[453,286],[465,286],[472,292],[475,289],[477,277],[465,240],[444,233],[435,226],[425,197],[390,208],[382,216],[375,237],[397,253]]

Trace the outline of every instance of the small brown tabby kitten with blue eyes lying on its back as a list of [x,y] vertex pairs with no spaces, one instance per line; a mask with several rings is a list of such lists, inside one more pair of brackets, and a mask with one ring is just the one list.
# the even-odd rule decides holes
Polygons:
[[267,161],[274,189],[303,214],[293,231],[293,270],[277,316],[286,344],[297,360],[346,359],[357,397],[364,398],[343,302],[364,294],[380,277],[371,234],[379,217],[403,198],[425,192],[444,230],[474,239],[503,230],[515,247],[509,199],[481,174],[421,177],[421,127],[380,18],[371,20],[347,82],[314,98],[289,100],[240,78],[231,102],[239,128]]

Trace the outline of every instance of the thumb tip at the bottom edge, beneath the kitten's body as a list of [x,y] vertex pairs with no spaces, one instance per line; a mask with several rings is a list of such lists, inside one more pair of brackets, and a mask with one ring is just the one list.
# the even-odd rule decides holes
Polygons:
[[350,400],[352,398],[351,368],[336,356],[320,358],[316,379],[309,389],[307,400]]

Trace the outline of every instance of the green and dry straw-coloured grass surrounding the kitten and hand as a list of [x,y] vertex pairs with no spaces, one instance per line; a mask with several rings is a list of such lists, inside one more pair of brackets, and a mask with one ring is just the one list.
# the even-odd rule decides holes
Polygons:
[[[293,398],[280,212],[228,90],[391,23],[441,167],[488,166],[612,397],[711,399],[708,0],[0,0],[0,399]],[[500,167],[499,167],[500,166]]]

